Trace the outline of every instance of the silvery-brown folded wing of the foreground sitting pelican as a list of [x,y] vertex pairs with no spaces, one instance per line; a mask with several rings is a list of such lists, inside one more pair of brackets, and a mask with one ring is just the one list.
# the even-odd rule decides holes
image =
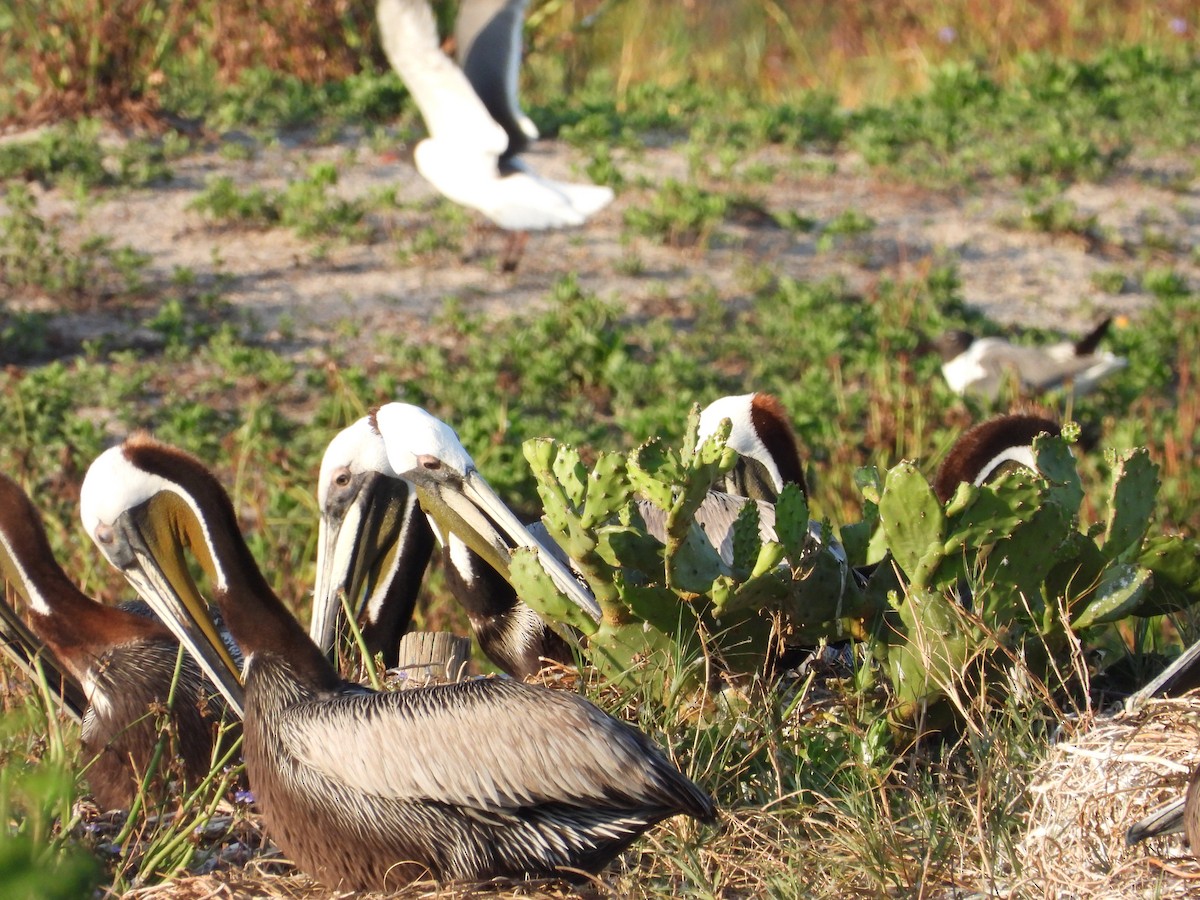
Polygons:
[[299,703],[277,728],[313,778],[372,797],[481,814],[547,804],[713,814],[640,732],[574,694],[506,679]]

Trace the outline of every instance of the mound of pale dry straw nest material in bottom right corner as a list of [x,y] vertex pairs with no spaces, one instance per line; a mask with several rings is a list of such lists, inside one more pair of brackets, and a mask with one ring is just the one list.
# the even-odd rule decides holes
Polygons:
[[1099,718],[1057,744],[1028,788],[1022,881],[1070,900],[1200,896],[1200,859],[1182,835],[1126,846],[1129,826],[1181,797],[1196,764],[1196,694]]

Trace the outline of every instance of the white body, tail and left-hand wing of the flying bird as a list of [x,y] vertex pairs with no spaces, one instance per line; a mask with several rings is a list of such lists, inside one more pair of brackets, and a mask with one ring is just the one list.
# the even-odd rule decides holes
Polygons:
[[[512,17],[515,11],[506,6],[502,14]],[[544,179],[512,157],[512,138],[516,144],[528,140],[517,118],[524,114],[515,102],[505,103],[516,122],[511,132],[488,114],[467,76],[438,47],[437,23],[425,0],[379,0],[377,16],[384,52],[430,131],[413,154],[416,169],[438,191],[508,230],[578,226],[612,200],[608,187]],[[494,56],[511,67],[520,53],[518,35],[514,37],[512,28],[496,32],[506,37]],[[472,54],[485,53],[491,35],[486,26],[476,31]],[[515,100],[515,79],[509,84],[511,90],[505,86],[503,92]]]

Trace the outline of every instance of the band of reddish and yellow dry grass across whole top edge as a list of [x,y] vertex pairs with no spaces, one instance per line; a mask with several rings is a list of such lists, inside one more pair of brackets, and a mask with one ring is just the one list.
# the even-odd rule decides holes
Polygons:
[[[452,4],[436,6],[449,22]],[[386,71],[373,19],[372,2],[350,0],[0,2],[0,72],[19,89],[0,121],[149,122],[172,78],[232,84],[264,67],[316,84]],[[1187,0],[535,0],[528,65],[536,100],[607,72],[618,98],[701,82],[774,100],[818,89],[858,106],[925,89],[952,60],[1003,78],[1028,52],[1087,58],[1145,43],[1184,53],[1196,28]]]

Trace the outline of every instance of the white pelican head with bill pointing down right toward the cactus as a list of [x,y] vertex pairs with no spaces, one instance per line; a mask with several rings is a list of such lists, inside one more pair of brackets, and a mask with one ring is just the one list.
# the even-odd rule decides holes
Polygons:
[[451,535],[457,538],[505,578],[511,559],[509,541],[532,547],[558,589],[600,620],[595,598],[484,480],[454,428],[409,403],[379,407],[370,421],[383,439],[392,472],[416,486],[421,509],[443,544]]

